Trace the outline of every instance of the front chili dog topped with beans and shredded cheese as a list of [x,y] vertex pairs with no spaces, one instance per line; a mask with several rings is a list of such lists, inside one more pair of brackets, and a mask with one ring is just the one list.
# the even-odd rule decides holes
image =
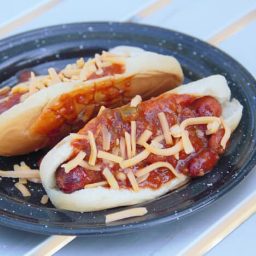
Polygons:
[[144,102],[136,96],[51,149],[40,165],[43,187],[70,211],[152,200],[211,171],[241,117],[222,75]]

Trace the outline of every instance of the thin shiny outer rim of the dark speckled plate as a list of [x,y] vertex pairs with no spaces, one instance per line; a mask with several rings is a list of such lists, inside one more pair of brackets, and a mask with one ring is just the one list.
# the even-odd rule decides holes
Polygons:
[[[111,24],[120,24],[120,22],[110,22]],[[86,26],[94,26],[94,25],[107,25],[109,24],[109,22],[79,22],[79,23],[72,23],[72,24],[64,24],[64,26],[77,26],[77,25],[86,25]],[[250,86],[249,89],[248,88],[241,88],[243,90],[243,92],[245,93],[245,95],[247,95],[249,97],[250,94],[248,94],[248,92],[246,91],[251,91],[253,95],[255,95],[255,79],[253,78],[253,76],[247,71],[247,69],[245,67],[243,67],[240,63],[238,63],[235,59],[233,59],[230,55],[224,53],[224,51],[216,48],[215,46],[212,46],[206,42],[203,42],[202,40],[189,36],[187,34],[181,33],[181,32],[177,32],[177,31],[173,31],[173,30],[167,30],[166,28],[161,28],[161,27],[156,27],[156,26],[149,26],[149,25],[143,25],[143,24],[135,24],[135,23],[130,23],[130,22],[121,22],[121,24],[126,24],[128,26],[137,26],[137,27],[147,27],[149,30],[154,29],[154,30],[159,30],[162,31],[163,33],[178,33],[180,35],[182,35],[184,38],[187,39],[192,39],[192,40],[196,40],[197,43],[200,43],[203,46],[207,46],[207,47],[211,47],[213,49],[217,49],[219,51],[219,53],[221,53],[223,56],[227,57],[232,65],[232,67],[237,71],[237,73],[240,73],[241,75],[243,75],[243,77],[246,77],[247,81],[249,81]],[[62,27],[62,25],[56,25],[56,26],[50,26],[50,27],[46,27],[47,30],[57,30],[60,27]],[[0,46],[3,46],[5,43],[7,43],[10,40],[18,40],[21,37],[28,37],[31,36],[32,34],[34,36],[36,36],[37,34],[42,33],[45,29],[45,27],[43,28],[39,28],[37,30],[32,30],[32,31],[27,31],[24,33],[19,33],[16,34],[14,36],[8,37],[8,38],[4,38],[1,40],[0,42]],[[252,95],[251,95],[252,96]],[[252,106],[252,103],[248,104],[249,109],[251,111],[252,114],[252,124],[254,124],[255,127],[255,118],[256,118],[256,113],[254,111],[255,109],[255,103],[254,103],[254,107]],[[75,230],[75,229],[67,229],[67,228],[56,228],[51,227],[50,223],[48,225],[48,229],[44,229],[41,230],[40,227],[42,226],[42,223],[37,223],[37,222],[27,222],[26,220],[15,220],[13,217],[9,217],[9,216],[5,216],[0,217],[0,223],[2,225],[6,225],[9,226],[11,228],[14,229],[20,229],[20,230],[24,230],[24,231],[30,231],[30,232],[36,232],[39,234],[45,234],[45,235],[53,235],[53,234],[61,234],[61,235],[77,235],[77,236],[86,236],[86,235],[102,235],[102,234],[120,234],[123,232],[132,232],[135,231],[137,229],[141,229],[141,228],[146,228],[149,226],[154,226],[156,224],[162,224],[162,223],[166,223],[166,222],[173,222],[176,219],[180,219],[180,218],[184,218],[190,214],[194,214],[197,211],[202,210],[202,208],[205,208],[209,205],[211,205],[211,203],[213,203],[214,201],[216,201],[217,199],[219,199],[220,197],[222,197],[223,195],[225,195],[226,193],[228,193],[228,191],[230,191],[231,189],[233,189],[234,187],[236,187],[236,185],[238,185],[239,183],[241,183],[243,181],[243,179],[245,179],[248,176],[248,173],[252,170],[252,168],[255,166],[255,158],[256,158],[256,149],[255,149],[255,141],[256,141],[256,135],[255,135],[255,129],[254,129],[254,143],[253,143],[253,150],[251,150],[251,153],[248,155],[248,160],[246,162],[246,164],[243,166],[242,170],[240,170],[240,175],[237,176],[235,179],[232,180],[232,182],[229,182],[228,184],[225,184],[221,189],[219,189],[218,191],[214,191],[211,194],[211,197],[208,197],[207,199],[202,199],[200,201],[197,201],[196,203],[194,203],[194,205],[185,207],[183,210],[181,210],[180,212],[178,212],[175,217],[174,216],[165,216],[165,217],[155,217],[154,219],[150,219],[150,220],[144,220],[141,222],[137,222],[134,223],[131,221],[131,225],[126,225],[125,227],[123,225],[109,225],[109,226],[105,226],[104,227],[104,231],[102,232],[102,228],[94,228],[94,229],[90,229],[90,230]],[[191,211],[192,210],[192,211]],[[132,220],[132,219],[131,219]]]

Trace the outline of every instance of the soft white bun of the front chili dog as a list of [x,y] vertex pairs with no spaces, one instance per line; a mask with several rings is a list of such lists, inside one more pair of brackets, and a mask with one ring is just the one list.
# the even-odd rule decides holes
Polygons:
[[[241,104],[233,99],[222,75],[212,75],[187,85],[180,86],[166,94],[193,94],[216,97],[223,107],[223,117],[234,131],[242,116]],[[67,136],[44,157],[40,166],[40,177],[51,202],[57,207],[70,211],[98,211],[107,208],[134,205],[155,199],[189,181],[189,177],[174,178],[162,184],[159,189],[141,188],[138,193],[131,189],[107,189],[103,187],[81,189],[71,194],[59,190],[55,181],[55,171],[72,153],[71,137]]]

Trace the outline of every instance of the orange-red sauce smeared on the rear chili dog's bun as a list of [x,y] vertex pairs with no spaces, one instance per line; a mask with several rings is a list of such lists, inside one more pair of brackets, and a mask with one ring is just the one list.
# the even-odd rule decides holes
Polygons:
[[[93,74],[89,79],[100,78],[104,75],[120,74],[124,70],[125,67],[121,65],[108,66],[103,68],[103,74]],[[78,131],[87,121],[86,119],[83,121],[78,119],[78,114],[83,112],[85,106],[91,105],[93,108],[92,113],[89,113],[89,118],[95,116],[102,104],[110,106],[115,101],[121,101],[121,95],[130,88],[129,81],[124,86],[121,89],[115,88],[112,80],[109,79],[97,89],[94,86],[88,86],[88,88],[78,88],[77,90],[72,90],[72,92],[62,94],[59,100],[50,108],[45,109],[36,120],[31,127],[31,134],[47,135],[53,138],[56,137],[57,133],[59,135],[62,134],[63,137],[69,132]],[[84,114],[86,114],[86,111]]]

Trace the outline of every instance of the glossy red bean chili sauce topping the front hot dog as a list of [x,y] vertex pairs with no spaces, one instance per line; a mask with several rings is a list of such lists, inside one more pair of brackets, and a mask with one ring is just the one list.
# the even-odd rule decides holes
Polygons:
[[[125,131],[129,133],[131,132],[130,121],[132,120],[136,121],[136,138],[138,138],[146,129],[153,132],[151,139],[161,135],[161,124],[157,116],[159,112],[165,113],[168,124],[171,126],[174,124],[180,124],[183,120],[191,117],[200,117],[204,115],[216,115],[219,117],[222,114],[222,108],[217,100],[208,96],[196,98],[191,95],[162,95],[157,98],[152,98],[149,101],[142,102],[135,109],[128,105],[114,110],[105,109],[100,117],[92,119],[87,125],[85,125],[84,128],[79,131],[79,134],[88,135],[89,130],[93,132],[97,149],[102,150],[101,131],[102,127],[106,126],[111,134],[109,153],[112,153],[116,140],[120,139],[120,137],[124,137]],[[150,154],[146,160],[143,160],[135,166],[131,166],[125,170],[122,170],[119,164],[114,164],[113,167],[111,167],[108,162],[98,158],[96,160],[96,164],[101,166],[101,171],[103,171],[104,167],[108,167],[115,175],[117,172],[127,173],[129,170],[136,172],[139,168],[143,168],[157,161],[167,161],[181,173],[187,174],[191,177],[202,176],[205,172],[212,170],[219,159],[219,154],[223,154],[225,151],[220,147],[220,140],[224,135],[224,130],[219,130],[216,134],[208,136],[206,135],[206,125],[191,125],[187,127],[187,130],[189,131],[189,138],[194,147],[194,152],[191,154],[185,154],[184,150],[182,150],[179,152],[179,160],[176,160],[173,156]],[[150,140],[148,143],[150,143]],[[170,147],[165,144],[165,141],[163,141],[162,144],[164,148]],[[74,140],[72,145],[75,150],[71,159],[78,153],[78,150],[83,150],[86,153],[85,160],[89,159],[90,144],[87,139]],[[144,150],[144,147],[136,145],[136,154],[139,154],[142,150]],[[81,167],[76,168],[79,168],[80,171]],[[75,171],[76,168],[74,168],[73,171]],[[88,170],[84,168],[83,171],[85,173],[88,172]],[[56,173],[58,177],[59,170]],[[69,177],[73,174],[62,174],[64,176],[62,177],[62,180],[67,180],[67,183],[58,183],[62,191],[72,193],[73,191],[83,187],[79,186],[79,188],[75,189],[76,181]],[[139,183],[139,187],[156,189],[159,188],[161,184],[169,182],[173,178],[174,175],[171,171],[166,168],[158,168],[151,171],[147,180]],[[103,180],[104,178],[102,176],[98,176],[96,182]],[[90,181],[90,183],[94,182]],[[128,179],[126,179],[126,181],[118,180],[118,183],[120,188],[131,188],[131,184]],[[72,189],[68,190],[66,188],[66,184],[68,184],[69,187],[70,184],[72,184]],[[80,181],[79,184],[81,184]],[[88,180],[86,180],[86,184],[88,184]]]

